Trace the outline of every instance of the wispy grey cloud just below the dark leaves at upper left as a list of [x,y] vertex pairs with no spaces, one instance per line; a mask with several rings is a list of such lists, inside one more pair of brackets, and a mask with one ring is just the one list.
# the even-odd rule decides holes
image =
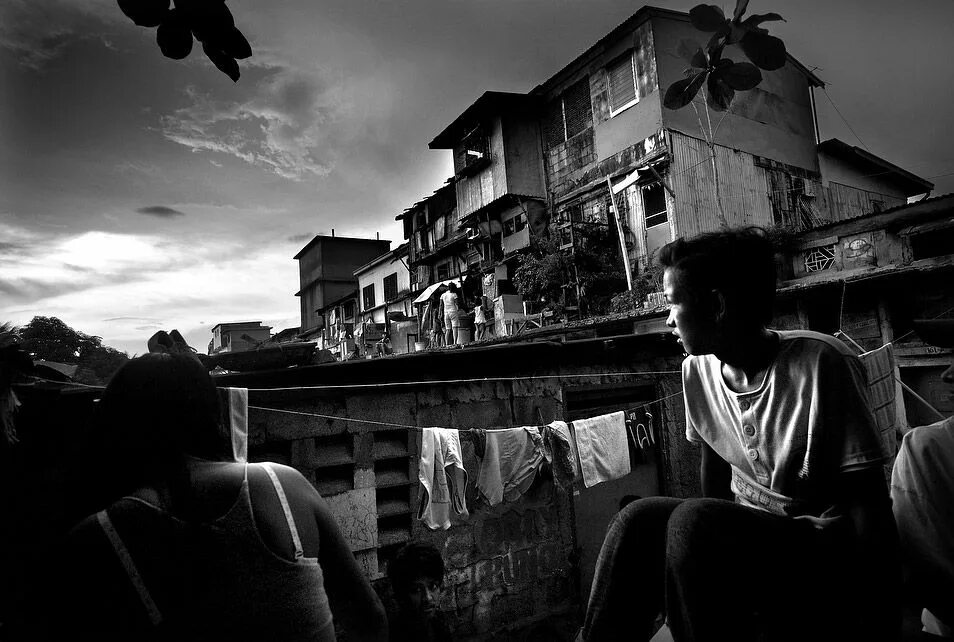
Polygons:
[[261,78],[242,99],[187,88],[189,105],[162,117],[163,135],[194,152],[234,156],[293,181],[328,175],[338,90],[317,72],[272,56],[263,56],[254,69]]

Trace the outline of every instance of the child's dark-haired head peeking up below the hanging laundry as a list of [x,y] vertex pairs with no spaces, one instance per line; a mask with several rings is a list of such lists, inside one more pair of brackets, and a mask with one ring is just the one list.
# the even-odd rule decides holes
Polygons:
[[388,578],[402,609],[433,611],[444,583],[444,560],[434,546],[412,542],[402,547],[388,564]]

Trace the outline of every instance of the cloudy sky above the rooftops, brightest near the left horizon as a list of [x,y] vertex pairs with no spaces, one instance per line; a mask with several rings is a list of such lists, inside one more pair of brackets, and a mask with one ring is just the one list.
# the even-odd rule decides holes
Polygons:
[[[0,3],[0,322],[57,316],[130,354],[159,329],[204,351],[217,323],[297,326],[308,240],[334,229],[396,247],[395,216],[452,174],[450,152],[427,147],[436,134],[484,91],[529,91],[642,5],[228,6],[253,50],[238,83],[199,46],[164,58],[114,1]],[[823,139],[954,192],[954,2],[749,5],[769,11],[827,83]]]

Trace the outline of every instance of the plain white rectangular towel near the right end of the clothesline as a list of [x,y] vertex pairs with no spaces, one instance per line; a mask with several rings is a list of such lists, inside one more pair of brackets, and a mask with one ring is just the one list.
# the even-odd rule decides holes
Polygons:
[[579,419],[573,422],[573,432],[585,488],[629,474],[626,413]]

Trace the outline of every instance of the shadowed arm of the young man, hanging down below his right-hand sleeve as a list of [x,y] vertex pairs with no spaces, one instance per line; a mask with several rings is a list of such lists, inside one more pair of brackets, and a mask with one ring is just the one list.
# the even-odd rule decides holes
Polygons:
[[898,531],[880,465],[842,472],[838,506],[854,527],[860,593],[867,605],[859,640],[896,640],[901,632]]

